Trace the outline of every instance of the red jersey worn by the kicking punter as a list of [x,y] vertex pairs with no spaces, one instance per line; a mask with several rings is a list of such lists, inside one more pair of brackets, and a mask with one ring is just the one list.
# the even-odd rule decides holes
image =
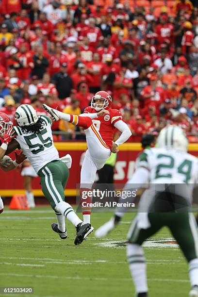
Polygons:
[[[103,115],[94,118],[92,121],[96,125],[100,132],[102,139],[105,141],[109,148],[112,147],[112,142],[115,133],[115,123],[122,120],[122,115],[117,109],[108,109],[109,115]],[[94,114],[97,111],[91,106],[88,106],[84,110],[84,114]]]

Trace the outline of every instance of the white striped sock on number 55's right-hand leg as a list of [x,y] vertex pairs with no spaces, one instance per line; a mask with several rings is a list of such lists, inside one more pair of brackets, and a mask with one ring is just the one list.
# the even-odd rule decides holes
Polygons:
[[73,208],[71,205],[65,201],[59,202],[55,210],[61,214],[63,214],[67,220],[69,220],[75,227],[79,224],[82,223],[82,220],[78,217],[78,215],[74,212]]

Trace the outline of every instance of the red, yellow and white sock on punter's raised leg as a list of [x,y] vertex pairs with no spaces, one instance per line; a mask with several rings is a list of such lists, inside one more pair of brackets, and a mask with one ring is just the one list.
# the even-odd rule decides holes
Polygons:
[[92,120],[88,116],[69,115],[69,114],[62,113],[58,110],[56,111],[56,113],[60,119],[63,119],[75,126],[80,126],[85,130],[88,129],[93,124]]

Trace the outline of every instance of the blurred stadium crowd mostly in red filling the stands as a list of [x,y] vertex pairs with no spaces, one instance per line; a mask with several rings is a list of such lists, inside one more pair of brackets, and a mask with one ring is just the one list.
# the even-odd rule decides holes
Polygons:
[[[0,111],[79,115],[108,91],[132,141],[176,123],[197,141],[198,5],[190,0],[1,0]],[[56,140],[82,139],[66,122]]]

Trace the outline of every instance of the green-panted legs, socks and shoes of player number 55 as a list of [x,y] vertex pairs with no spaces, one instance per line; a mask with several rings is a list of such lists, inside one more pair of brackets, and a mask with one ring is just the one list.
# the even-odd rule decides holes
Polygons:
[[64,186],[69,175],[66,164],[59,160],[50,162],[39,170],[38,175],[42,191],[57,215],[58,224],[52,226],[53,231],[66,237],[66,217],[77,229],[75,245],[81,244],[91,225],[83,223],[71,205],[65,202]]

